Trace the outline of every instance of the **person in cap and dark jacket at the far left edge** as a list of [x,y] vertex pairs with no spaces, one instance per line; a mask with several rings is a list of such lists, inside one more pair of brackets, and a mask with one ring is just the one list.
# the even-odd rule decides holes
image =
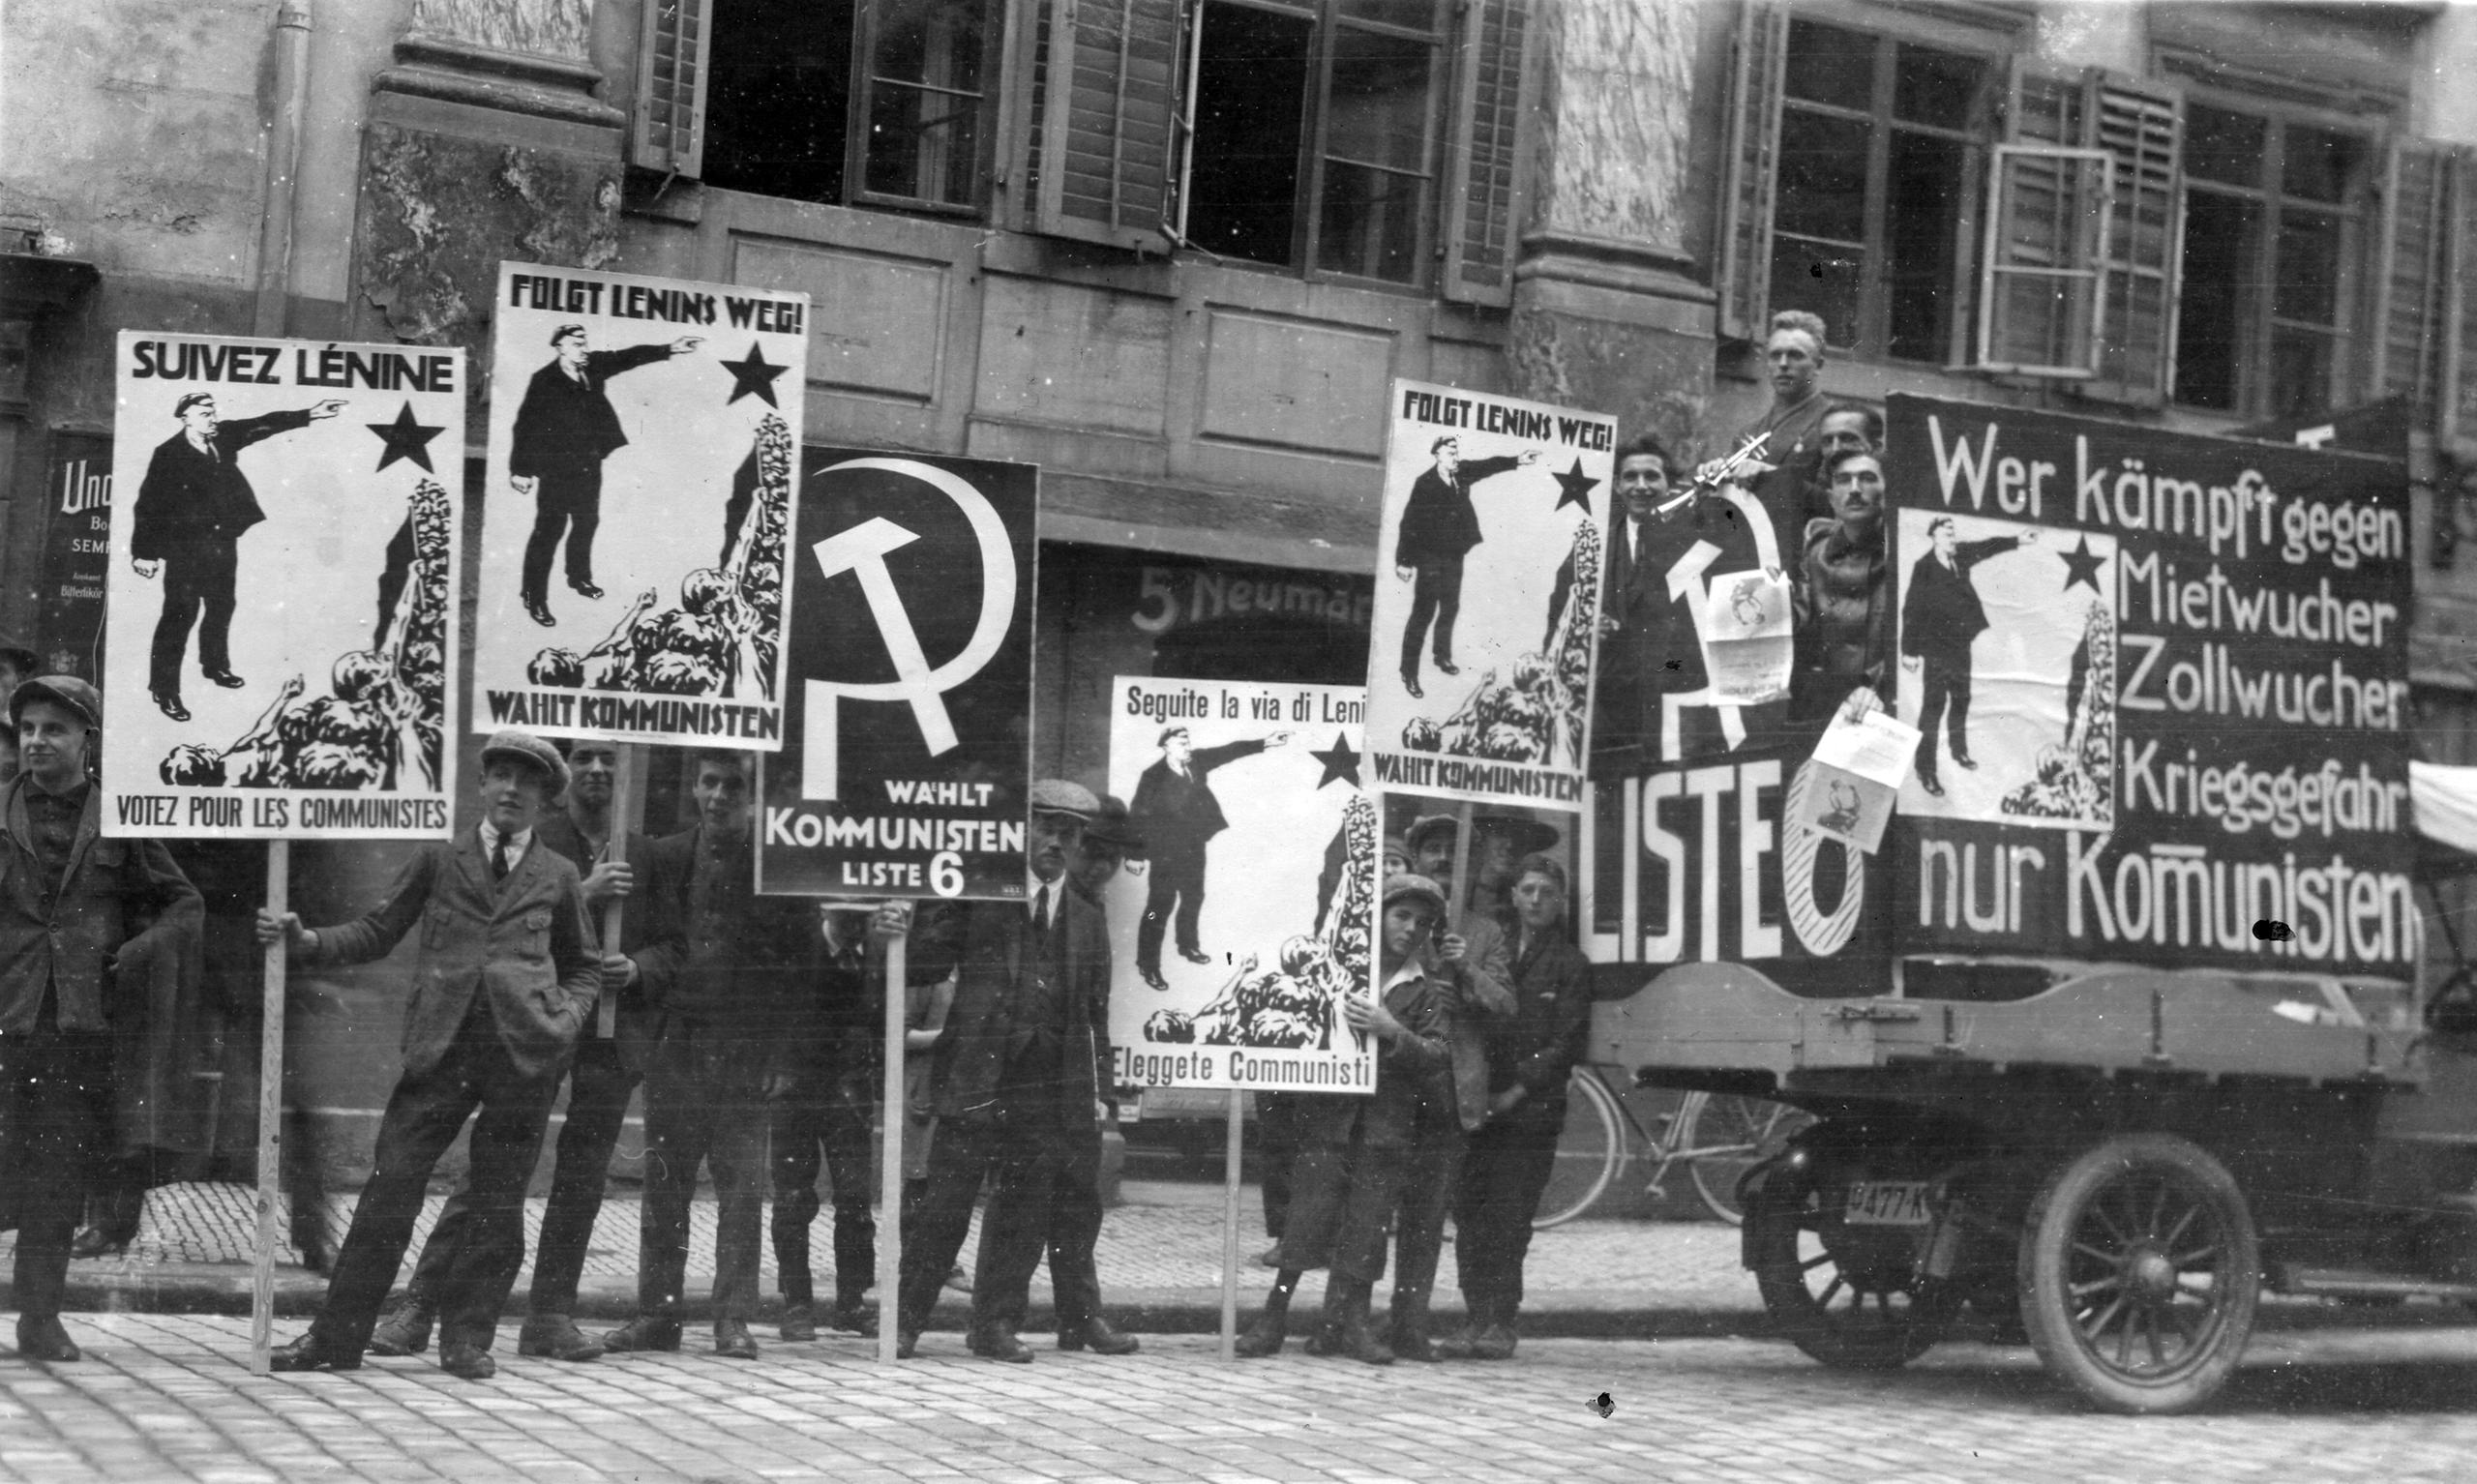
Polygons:
[[119,986],[198,932],[198,892],[156,840],[104,840],[89,775],[104,701],[40,676],[7,701],[25,770],[0,788],[0,1189],[17,1202],[17,1353],[77,1360],[59,1325],[87,1182],[111,1154]]

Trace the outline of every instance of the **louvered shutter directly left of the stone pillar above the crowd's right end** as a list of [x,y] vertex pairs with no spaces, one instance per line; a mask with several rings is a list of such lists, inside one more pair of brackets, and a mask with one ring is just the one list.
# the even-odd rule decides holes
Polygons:
[[1444,282],[1471,305],[1513,302],[1513,258],[1523,223],[1521,129],[1531,116],[1531,0],[1464,5],[1456,69],[1454,159],[1444,193]]

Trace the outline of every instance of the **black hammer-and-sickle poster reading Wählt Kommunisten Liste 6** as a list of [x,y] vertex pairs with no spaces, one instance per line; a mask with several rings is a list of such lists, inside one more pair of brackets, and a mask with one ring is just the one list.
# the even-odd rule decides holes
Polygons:
[[805,458],[758,889],[1021,902],[1040,471]]

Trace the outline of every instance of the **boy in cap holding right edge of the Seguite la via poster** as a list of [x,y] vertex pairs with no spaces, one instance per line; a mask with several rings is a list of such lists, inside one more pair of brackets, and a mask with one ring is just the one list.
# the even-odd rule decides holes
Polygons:
[[1352,1031],[1377,1043],[1372,1095],[1310,1093],[1298,1098],[1303,1147],[1291,1169],[1291,1211],[1276,1246],[1281,1271],[1263,1313],[1238,1335],[1241,1358],[1281,1350],[1288,1333],[1291,1291],[1305,1268],[1325,1273],[1325,1323],[1308,1343],[1315,1355],[1350,1355],[1367,1365],[1392,1365],[1392,1350],[1367,1330],[1367,1301],[1385,1273],[1385,1239],[1419,1120],[1454,1115],[1452,1021],[1454,989],[1429,976],[1422,959],[1444,917],[1444,892],[1417,875],[1385,882],[1377,914],[1377,993],[1343,998]]

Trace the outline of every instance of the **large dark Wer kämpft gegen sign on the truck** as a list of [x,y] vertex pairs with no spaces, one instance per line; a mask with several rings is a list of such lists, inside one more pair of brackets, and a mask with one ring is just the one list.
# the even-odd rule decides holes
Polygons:
[[2408,974],[2398,466],[1910,396],[1887,431],[1905,944]]

